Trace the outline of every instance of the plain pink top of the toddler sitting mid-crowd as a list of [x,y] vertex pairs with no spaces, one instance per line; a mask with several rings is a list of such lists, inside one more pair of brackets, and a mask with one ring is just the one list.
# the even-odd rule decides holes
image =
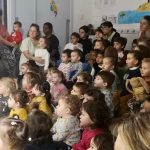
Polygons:
[[51,87],[52,103],[57,105],[59,97],[67,93],[68,90],[64,84],[60,83],[58,85],[53,85]]

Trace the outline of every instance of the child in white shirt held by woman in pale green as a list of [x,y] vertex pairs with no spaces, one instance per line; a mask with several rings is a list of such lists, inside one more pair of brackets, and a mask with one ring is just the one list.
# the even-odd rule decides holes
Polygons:
[[47,47],[47,39],[45,37],[41,37],[39,39],[38,48],[35,50],[35,57],[41,57],[43,59],[43,63],[35,60],[35,63],[39,66],[40,70],[46,72],[48,70],[49,62],[50,62],[50,54],[46,49]]

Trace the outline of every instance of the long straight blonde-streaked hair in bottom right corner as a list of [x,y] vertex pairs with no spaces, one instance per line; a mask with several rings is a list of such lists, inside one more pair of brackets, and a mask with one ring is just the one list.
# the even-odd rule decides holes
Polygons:
[[[118,134],[127,150],[149,150],[150,113],[138,113],[124,119]],[[138,143],[137,143],[138,141]]]

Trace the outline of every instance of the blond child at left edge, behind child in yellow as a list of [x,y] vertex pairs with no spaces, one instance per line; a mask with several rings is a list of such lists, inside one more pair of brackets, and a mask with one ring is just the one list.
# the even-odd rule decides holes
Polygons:
[[0,78],[0,117],[8,116],[8,99],[10,93],[16,90],[15,81],[8,77]]

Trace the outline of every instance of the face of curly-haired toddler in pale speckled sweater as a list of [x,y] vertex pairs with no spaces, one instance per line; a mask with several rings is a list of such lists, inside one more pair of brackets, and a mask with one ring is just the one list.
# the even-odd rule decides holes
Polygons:
[[64,100],[60,99],[58,105],[56,106],[56,114],[58,117],[64,117],[69,114],[69,106],[65,103]]

